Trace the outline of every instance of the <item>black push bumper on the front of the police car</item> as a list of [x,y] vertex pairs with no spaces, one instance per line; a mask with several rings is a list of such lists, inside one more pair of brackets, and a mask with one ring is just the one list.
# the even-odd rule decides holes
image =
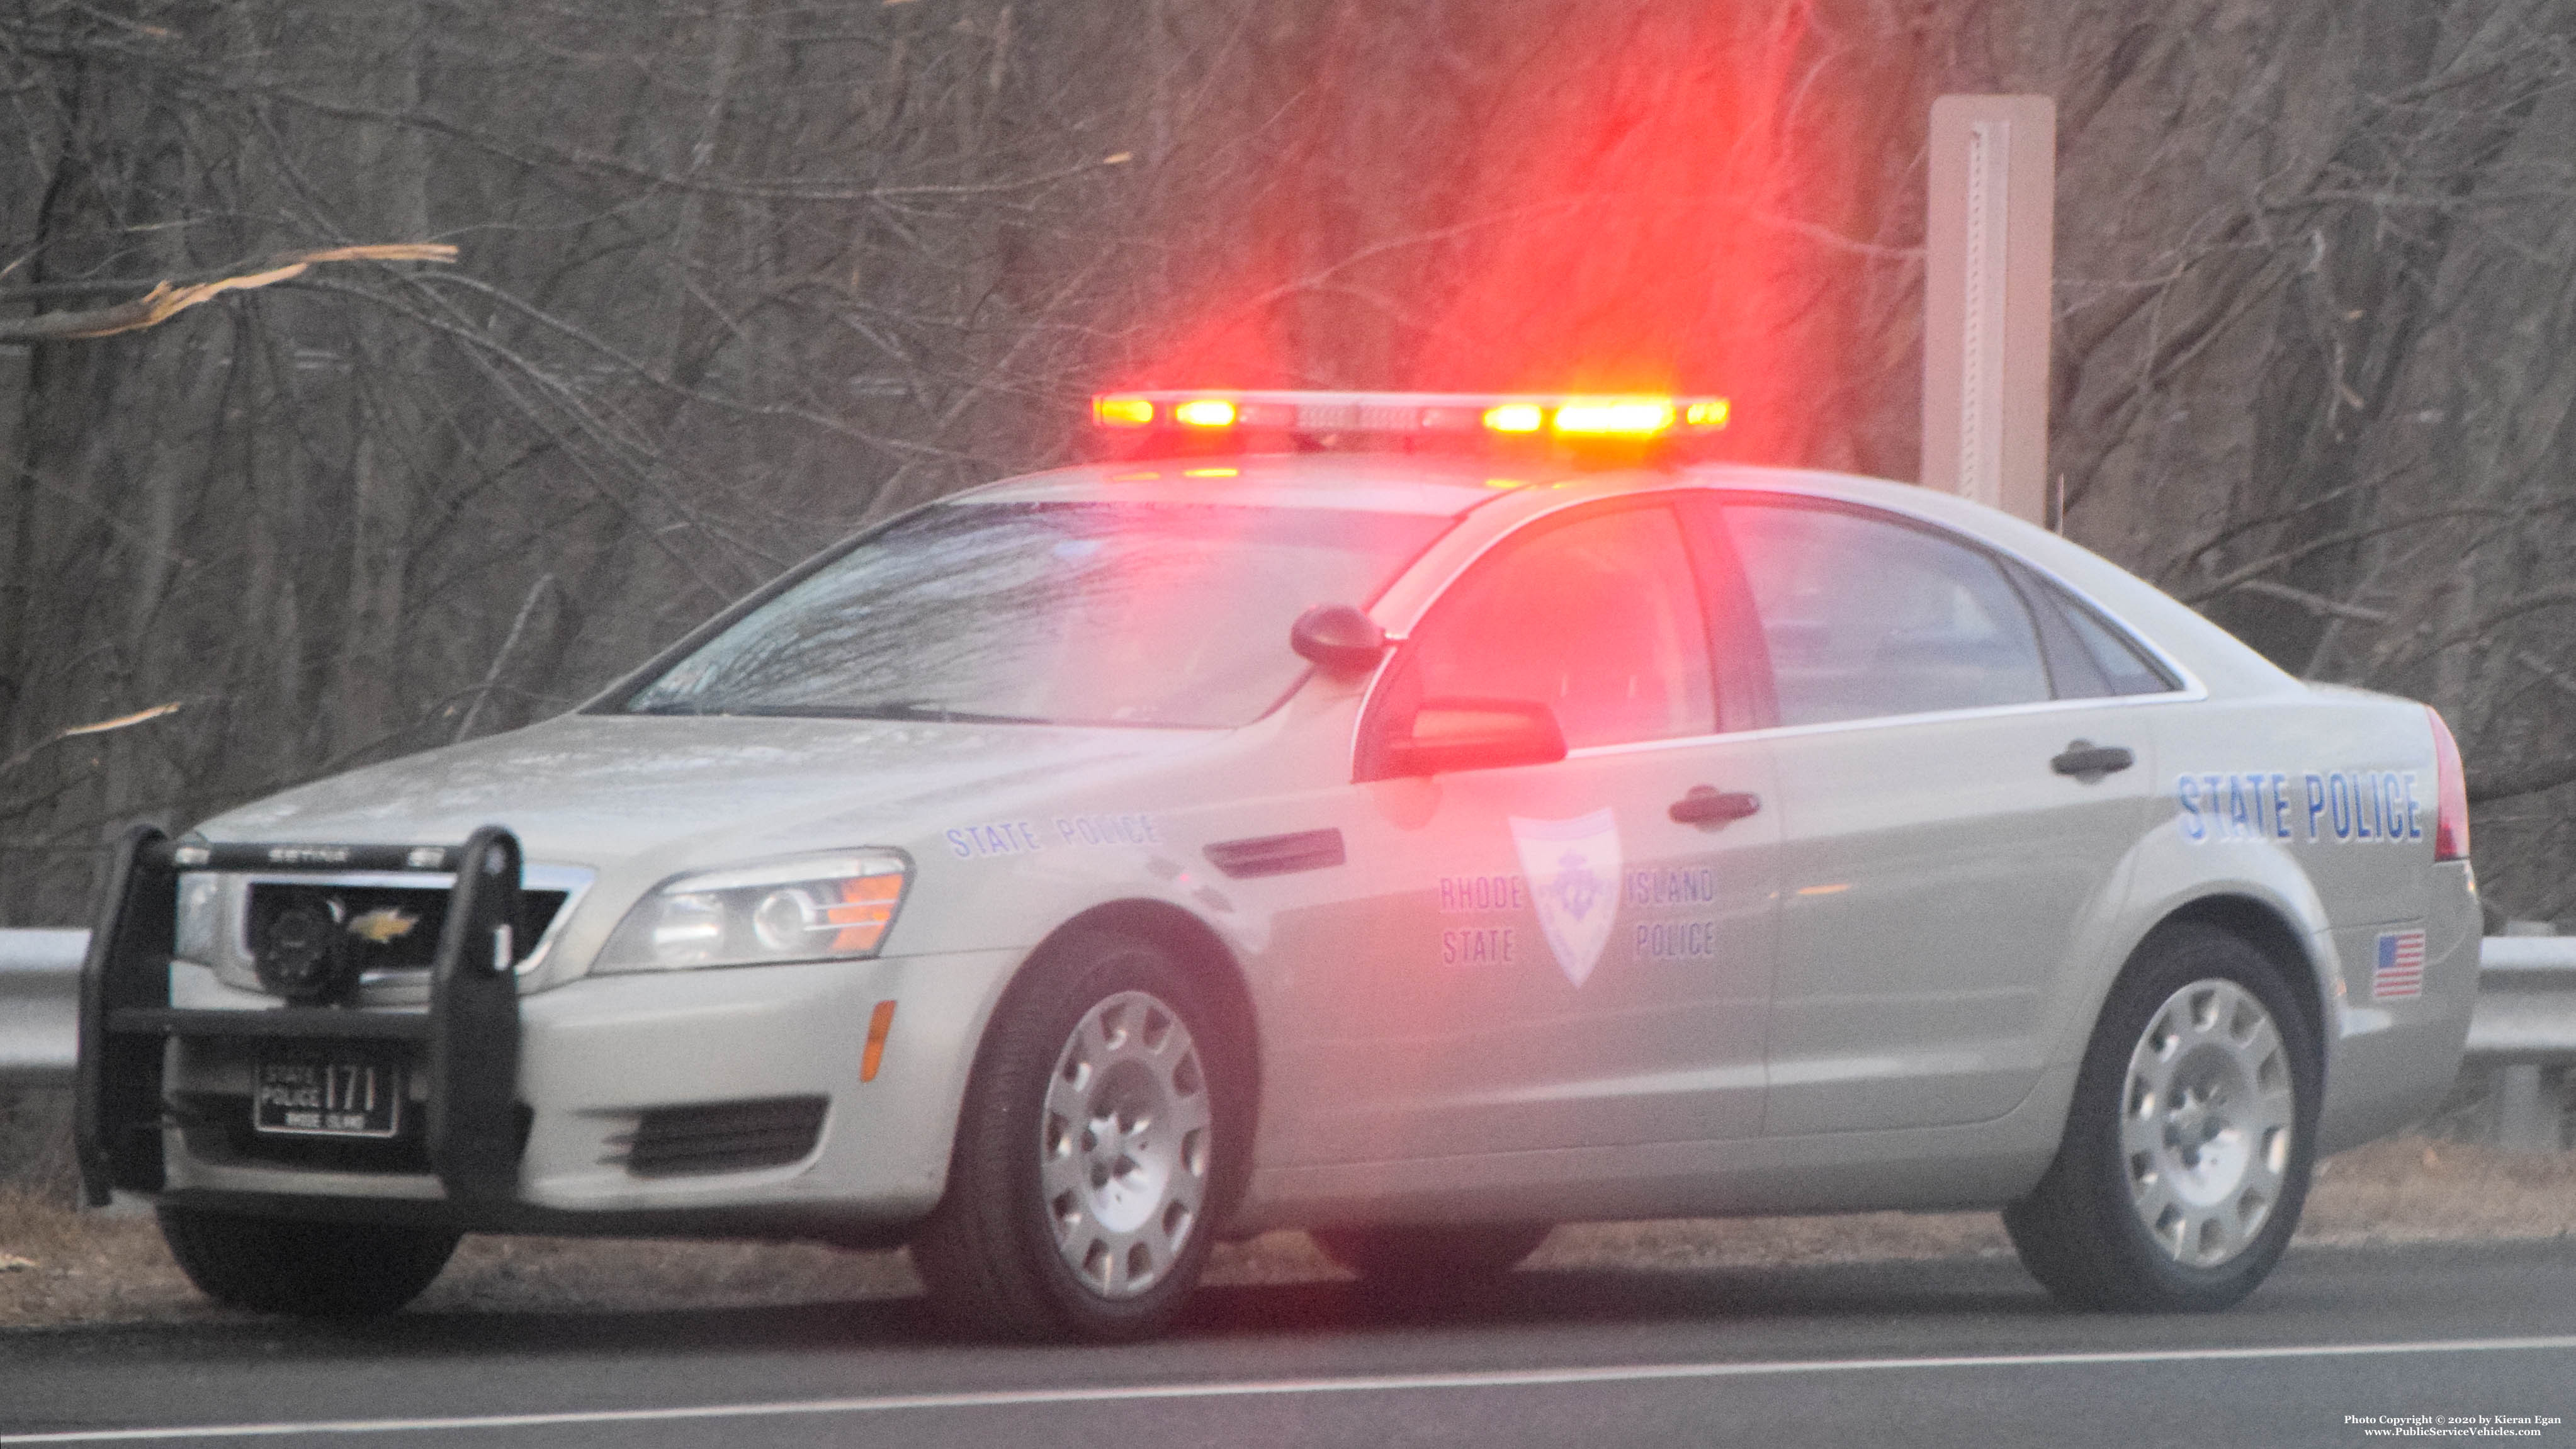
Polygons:
[[[417,1042],[428,1068],[425,1148],[456,1204],[518,1192],[526,1112],[518,1104],[518,973],[536,945],[520,906],[518,836],[484,826],[464,847],[193,844],[139,826],[116,847],[90,957],[80,968],[80,1066],[72,1078],[80,1181],[93,1204],[113,1189],[160,1192],[162,1060],[170,1037]],[[178,878],[237,872],[453,872],[430,1009],[358,1011],[281,1006],[185,1011],[170,1006]]]

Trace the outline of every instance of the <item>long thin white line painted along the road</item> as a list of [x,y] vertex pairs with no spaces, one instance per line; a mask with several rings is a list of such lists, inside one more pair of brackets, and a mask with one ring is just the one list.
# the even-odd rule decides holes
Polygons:
[[2102,1364],[2210,1364],[2246,1359],[2360,1359],[2372,1354],[2535,1354],[2576,1351],[2576,1336],[2437,1338],[2424,1343],[2277,1343],[2251,1349],[2130,1349],[2105,1354],[1963,1354],[1927,1359],[1780,1359],[1739,1364],[1605,1364],[1592,1369],[1489,1369],[1461,1374],[1355,1374],[1329,1380],[1218,1380],[1206,1385],[1113,1385],[1059,1390],[971,1390],[783,1403],[706,1403],[688,1408],[598,1408],[567,1413],[482,1413],[459,1418],[317,1418],[307,1423],[198,1423],[167,1428],[72,1428],[0,1434],[0,1444],[139,1444],[173,1439],[283,1439],[289,1434],[440,1434],[466,1428],[559,1428],[577,1423],[677,1423],[690,1418],[786,1418],[804,1413],[904,1413],[938,1408],[1018,1408],[1043,1403],[1144,1403],[1190,1398],[1273,1398],[1327,1392],[1520,1390],[1553,1385],[1636,1385],[1672,1380],[1759,1380],[1777,1374],[1868,1374],[1909,1369],[2048,1369]]

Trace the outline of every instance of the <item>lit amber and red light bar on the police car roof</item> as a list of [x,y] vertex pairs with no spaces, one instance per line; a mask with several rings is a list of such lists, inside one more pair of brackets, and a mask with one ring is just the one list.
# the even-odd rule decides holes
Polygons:
[[1105,432],[1275,432],[1298,438],[1680,440],[1726,427],[1723,396],[1466,391],[1115,391],[1092,399]]

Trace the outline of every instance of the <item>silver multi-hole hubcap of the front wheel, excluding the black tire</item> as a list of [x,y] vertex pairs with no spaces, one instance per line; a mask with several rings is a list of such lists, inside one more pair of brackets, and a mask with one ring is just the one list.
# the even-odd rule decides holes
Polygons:
[[1038,1125],[1056,1253],[1100,1297],[1136,1297],[1180,1259],[1208,1199],[1208,1078],[1190,1027],[1121,991],[1064,1040]]

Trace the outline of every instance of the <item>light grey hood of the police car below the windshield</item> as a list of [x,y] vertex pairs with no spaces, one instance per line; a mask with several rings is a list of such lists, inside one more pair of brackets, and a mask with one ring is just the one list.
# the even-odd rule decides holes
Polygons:
[[961,798],[1185,749],[1203,731],[912,721],[562,715],[227,811],[216,842],[459,844],[507,826],[528,860],[608,865],[685,839],[894,844]]

